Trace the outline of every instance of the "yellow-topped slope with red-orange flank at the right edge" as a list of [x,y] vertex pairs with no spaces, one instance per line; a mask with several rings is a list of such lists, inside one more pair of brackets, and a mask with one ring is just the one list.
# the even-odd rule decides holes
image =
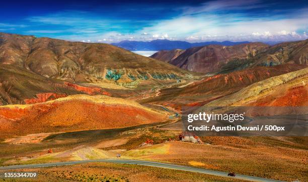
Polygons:
[[225,113],[238,109],[250,116],[297,114],[298,119],[304,119],[308,106],[307,82],[308,68],[304,68],[254,83],[208,102],[195,112]]

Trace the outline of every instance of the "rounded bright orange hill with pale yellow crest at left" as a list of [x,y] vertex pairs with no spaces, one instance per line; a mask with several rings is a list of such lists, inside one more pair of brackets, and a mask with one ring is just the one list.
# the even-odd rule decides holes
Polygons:
[[0,137],[41,132],[111,129],[162,122],[168,112],[108,96],[73,95],[0,107]]

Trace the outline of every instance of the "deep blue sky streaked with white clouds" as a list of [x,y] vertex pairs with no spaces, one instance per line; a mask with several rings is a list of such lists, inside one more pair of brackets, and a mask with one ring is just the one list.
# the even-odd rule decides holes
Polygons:
[[7,1],[0,32],[70,41],[293,41],[308,37],[305,1]]

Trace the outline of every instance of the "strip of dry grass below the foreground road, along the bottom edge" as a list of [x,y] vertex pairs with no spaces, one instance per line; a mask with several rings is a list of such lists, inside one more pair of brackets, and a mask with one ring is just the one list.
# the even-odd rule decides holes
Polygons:
[[244,181],[165,168],[112,163],[88,163],[16,171],[37,171],[39,176],[33,181]]

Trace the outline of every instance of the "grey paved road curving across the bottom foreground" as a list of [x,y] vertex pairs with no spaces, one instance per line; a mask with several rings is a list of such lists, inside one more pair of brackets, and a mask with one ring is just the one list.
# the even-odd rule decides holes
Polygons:
[[152,167],[162,167],[176,170],[184,170],[190,172],[199,172],[209,175],[216,175],[222,177],[231,177],[237,179],[244,179],[250,181],[278,181],[272,179],[266,179],[261,177],[254,177],[248,175],[240,175],[237,174],[235,177],[228,176],[226,172],[214,171],[201,169],[196,167],[189,167],[184,165],[176,165],[171,163],[162,163],[162,162],[153,162],[153,161],[145,161],[145,160],[125,160],[125,159],[98,159],[98,160],[79,160],[79,161],[68,161],[68,162],[54,162],[54,163],[41,163],[41,164],[27,164],[27,165],[11,165],[0,167],[0,170],[9,170],[9,169],[21,169],[21,168],[35,168],[35,167],[50,167],[50,166],[58,166],[58,165],[72,165],[72,164],[80,164],[80,163],[88,163],[88,162],[112,162],[112,163],[125,163],[125,164],[138,164],[138,165],[146,165]]

